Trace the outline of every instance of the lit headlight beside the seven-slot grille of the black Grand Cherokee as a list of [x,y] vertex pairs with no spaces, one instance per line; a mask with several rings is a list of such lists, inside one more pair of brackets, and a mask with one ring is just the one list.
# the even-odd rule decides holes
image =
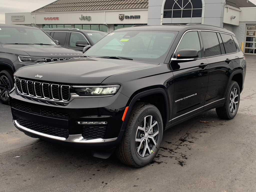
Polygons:
[[120,88],[120,85],[107,86],[72,86],[76,93],[80,96],[102,96],[114,95]]

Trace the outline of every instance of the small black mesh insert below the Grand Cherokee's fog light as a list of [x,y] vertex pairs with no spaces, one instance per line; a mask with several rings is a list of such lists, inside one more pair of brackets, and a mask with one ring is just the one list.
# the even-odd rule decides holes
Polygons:
[[95,125],[86,125],[83,126],[82,136],[85,139],[98,139],[104,138],[107,130],[107,126],[95,126]]

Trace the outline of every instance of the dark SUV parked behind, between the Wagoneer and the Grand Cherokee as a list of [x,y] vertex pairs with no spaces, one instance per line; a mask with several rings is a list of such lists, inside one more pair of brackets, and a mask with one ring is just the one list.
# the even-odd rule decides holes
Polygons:
[[61,47],[83,51],[85,46],[93,46],[108,35],[104,31],[82,30],[75,28],[42,29],[53,39],[58,40]]

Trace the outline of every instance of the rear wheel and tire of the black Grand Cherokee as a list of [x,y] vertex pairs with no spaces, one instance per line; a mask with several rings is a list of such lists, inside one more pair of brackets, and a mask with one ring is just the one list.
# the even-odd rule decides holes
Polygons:
[[[233,100],[235,91],[236,91],[236,94]],[[224,106],[220,108],[216,108],[217,115],[221,119],[228,119],[228,120],[233,119],[237,114],[239,103],[240,103],[239,85],[236,81],[231,81],[226,94],[226,100],[225,100]]]

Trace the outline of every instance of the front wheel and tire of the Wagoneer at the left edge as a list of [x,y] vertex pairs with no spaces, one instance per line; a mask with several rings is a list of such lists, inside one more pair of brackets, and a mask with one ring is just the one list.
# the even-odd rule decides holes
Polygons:
[[9,70],[0,72],[0,101],[4,104],[9,102],[9,91],[14,87],[13,73]]

